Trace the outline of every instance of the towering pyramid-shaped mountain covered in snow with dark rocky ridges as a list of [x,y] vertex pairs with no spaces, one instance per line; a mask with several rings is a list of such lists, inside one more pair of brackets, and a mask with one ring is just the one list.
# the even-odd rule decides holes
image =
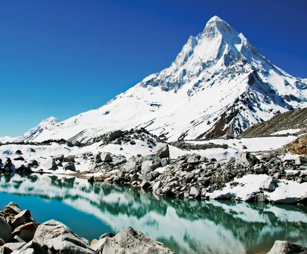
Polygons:
[[29,138],[84,142],[145,127],[168,140],[238,135],[276,114],[307,106],[307,80],[282,71],[219,17],[191,36],[170,67],[106,105],[49,124]]

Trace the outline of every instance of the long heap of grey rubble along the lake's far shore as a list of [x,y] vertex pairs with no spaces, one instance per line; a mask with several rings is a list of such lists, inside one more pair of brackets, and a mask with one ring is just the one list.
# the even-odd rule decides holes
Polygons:
[[[107,182],[130,183],[153,190],[157,195],[190,199],[205,198],[206,193],[222,190],[229,182],[236,186],[238,183],[233,182],[234,178],[242,178],[247,174],[270,175],[271,180],[264,183],[266,191],[274,191],[280,179],[307,182],[307,158],[300,156],[296,160],[282,159],[280,152],[285,152],[283,148],[258,154],[259,159],[245,152],[237,160],[231,157],[221,161],[201,157],[199,154],[185,154],[171,159],[165,151],[168,151],[167,144],[156,148],[155,152],[158,154],[140,155],[128,162],[114,157],[110,162],[103,162],[103,169],[100,166],[97,170],[105,173],[103,177]],[[121,163],[112,166],[113,161]],[[116,163],[118,162],[113,165]]]

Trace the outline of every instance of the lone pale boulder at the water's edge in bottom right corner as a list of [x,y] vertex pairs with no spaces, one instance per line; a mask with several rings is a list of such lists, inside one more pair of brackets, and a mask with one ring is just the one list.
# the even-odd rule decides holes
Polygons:
[[275,241],[267,254],[307,254],[307,248],[287,241]]

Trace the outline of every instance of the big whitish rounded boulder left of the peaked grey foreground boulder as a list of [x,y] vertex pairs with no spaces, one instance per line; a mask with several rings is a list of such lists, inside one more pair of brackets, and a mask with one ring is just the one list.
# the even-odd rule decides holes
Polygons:
[[51,249],[52,253],[95,253],[71,229],[55,220],[46,221],[37,227],[33,237],[33,245],[40,249],[42,253],[47,253],[47,249]]

